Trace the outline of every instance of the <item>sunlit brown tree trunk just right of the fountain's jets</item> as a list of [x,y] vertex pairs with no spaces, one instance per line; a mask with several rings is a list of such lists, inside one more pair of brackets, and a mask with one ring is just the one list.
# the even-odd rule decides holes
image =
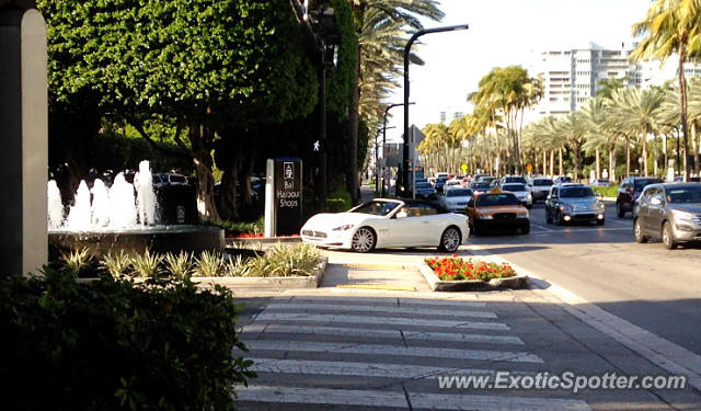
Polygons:
[[211,173],[214,161],[209,148],[205,145],[205,133],[198,125],[192,126],[188,133],[193,164],[197,176],[196,201],[199,222],[219,219],[215,206],[215,179]]

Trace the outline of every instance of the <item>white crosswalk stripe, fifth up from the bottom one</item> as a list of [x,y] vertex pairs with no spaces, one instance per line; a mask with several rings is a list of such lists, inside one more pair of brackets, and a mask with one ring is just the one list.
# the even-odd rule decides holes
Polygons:
[[263,311],[256,321],[320,321],[320,322],[348,322],[360,324],[392,324],[392,326],[416,326],[416,327],[443,327],[443,328],[470,328],[479,330],[509,330],[508,326],[502,322],[480,322],[480,321],[456,321],[456,320],[434,320],[401,317],[367,317],[348,316],[333,313],[309,313],[309,312],[275,312]]

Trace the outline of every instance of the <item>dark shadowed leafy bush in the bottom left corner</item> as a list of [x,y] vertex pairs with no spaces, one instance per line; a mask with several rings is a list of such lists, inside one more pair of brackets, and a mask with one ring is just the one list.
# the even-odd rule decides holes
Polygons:
[[3,409],[233,410],[254,376],[223,288],[45,274],[0,282]]

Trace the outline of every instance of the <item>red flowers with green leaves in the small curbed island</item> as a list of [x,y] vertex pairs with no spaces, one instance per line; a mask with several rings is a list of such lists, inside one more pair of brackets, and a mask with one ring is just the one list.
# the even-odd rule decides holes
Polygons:
[[481,279],[513,277],[516,275],[514,269],[507,263],[496,264],[472,259],[463,260],[457,254],[452,256],[424,260],[426,264],[436,273],[441,281],[457,279]]

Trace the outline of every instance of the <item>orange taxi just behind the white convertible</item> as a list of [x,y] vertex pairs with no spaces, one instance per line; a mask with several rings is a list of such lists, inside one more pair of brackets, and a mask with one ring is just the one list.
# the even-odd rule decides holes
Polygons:
[[530,216],[514,193],[474,193],[466,213],[470,229],[478,233],[490,228],[517,228],[530,232]]

